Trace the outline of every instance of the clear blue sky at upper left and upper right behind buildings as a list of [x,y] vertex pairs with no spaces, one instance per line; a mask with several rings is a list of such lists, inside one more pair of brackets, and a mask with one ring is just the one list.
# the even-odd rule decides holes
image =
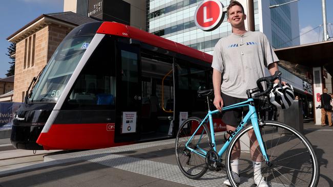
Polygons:
[[[297,4],[299,7],[300,34],[322,24],[321,0],[300,0]],[[63,11],[63,5],[63,0],[10,0],[1,2],[0,22],[3,28],[0,29],[0,78],[6,77],[5,74],[10,66],[8,63],[10,59],[6,55],[10,43],[6,38],[41,14]],[[333,24],[333,13],[329,11],[329,7],[333,7],[332,0],[326,0],[326,13],[327,22]],[[327,29],[329,36],[333,37],[333,30],[331,30],[333,25],[328,25]],[[322,32],[321,27],[321,30],[318,28],[302,35],[301,43],[318,42],[322,38]]]

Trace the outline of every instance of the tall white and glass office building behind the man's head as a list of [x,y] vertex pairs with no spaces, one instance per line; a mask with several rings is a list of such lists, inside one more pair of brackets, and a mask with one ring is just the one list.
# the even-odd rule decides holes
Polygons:
[[[213,54],[216,42],[230,35],[232,29],[226,20],[214,31],[205,32],[194,23],[194,13],[202,0],[147,0],[147,32],[182,43],[191,48]],[[220,0],[224,6],[230,0]],[[246,0],[239,0],[247,12]],[[299,45],[298,5],[290,3],[269,9],[270,5],[287,0],[254,0],[255,30],[265,33],[273,48]],[[246,27],[247,24],[245,23]],[[302,88],[303,81],[281,68],[285,81]],[[266,73],[269,74],[268,71]]]

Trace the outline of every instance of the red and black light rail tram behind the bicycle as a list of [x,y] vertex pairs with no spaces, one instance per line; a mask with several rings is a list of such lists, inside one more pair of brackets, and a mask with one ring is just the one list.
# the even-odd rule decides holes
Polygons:
[[[175,137],[183,120],[205,114],[197,90],[213,88],[212,59],[116,22],[78,26],[31,83],[11,142],[75,150]],[[225,130],[219,116],[214,122]]]

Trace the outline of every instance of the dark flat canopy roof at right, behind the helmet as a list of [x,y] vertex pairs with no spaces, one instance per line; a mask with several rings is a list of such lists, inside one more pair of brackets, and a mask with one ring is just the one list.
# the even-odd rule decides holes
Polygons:
[[311,68],[324,66],[333,75],[333,40],[274,50],[281,65],[298,77],[312,82]]

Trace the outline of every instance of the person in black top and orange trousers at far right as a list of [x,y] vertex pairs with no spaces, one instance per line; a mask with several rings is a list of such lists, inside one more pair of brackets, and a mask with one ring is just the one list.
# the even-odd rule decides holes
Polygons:
[[325,126],[325,118],[327,115],[327,120],[328,120],[328,125],[331,127],[332,126],[332,119],[331,119],[331,96],[327,94],[328,89],[324,88],[323,94],[320,96],[320,102],[321,102],[321,126]]

